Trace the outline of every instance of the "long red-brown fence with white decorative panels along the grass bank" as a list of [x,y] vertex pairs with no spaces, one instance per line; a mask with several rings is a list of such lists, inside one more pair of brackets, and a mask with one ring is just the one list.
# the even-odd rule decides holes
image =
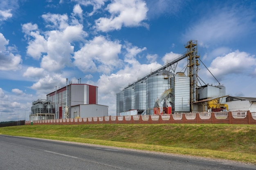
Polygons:
[[176,113],[171,115],[105,116],[26,121],[26,125],[30,124],[256,124],[256,112]]

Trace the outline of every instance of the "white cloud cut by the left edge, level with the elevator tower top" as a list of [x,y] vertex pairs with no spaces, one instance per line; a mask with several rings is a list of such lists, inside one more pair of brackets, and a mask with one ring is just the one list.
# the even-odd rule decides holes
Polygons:
[[[2,71],[16,71],[21,68],[22,59],[20,55],[14,55],[11,51],[6,49],[9,40],[4,38],[0,33],[0,70]],[[11,49],[11,48],[10,48]]]

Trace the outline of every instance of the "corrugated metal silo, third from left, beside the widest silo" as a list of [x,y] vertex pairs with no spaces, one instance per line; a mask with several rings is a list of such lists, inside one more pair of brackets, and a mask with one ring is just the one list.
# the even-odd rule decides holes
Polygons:
[[134,85],[134,109],[140,114],[146,110],[146,80],[142,80]]

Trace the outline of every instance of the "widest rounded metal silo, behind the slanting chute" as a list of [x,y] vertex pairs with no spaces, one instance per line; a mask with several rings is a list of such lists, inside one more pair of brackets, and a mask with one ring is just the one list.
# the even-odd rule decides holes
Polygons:
[[146,78],[146,114],[154,114],[154,105],[158,97],[170,88],[170,72],[161,71]]

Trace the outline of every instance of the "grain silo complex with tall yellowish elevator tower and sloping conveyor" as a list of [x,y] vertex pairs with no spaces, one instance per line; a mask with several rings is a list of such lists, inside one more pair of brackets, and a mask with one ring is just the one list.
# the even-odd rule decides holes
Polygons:
[[[168,60],[163,66],[138,78],[116,94],[116,114],[126,115],[129,110],[137,114],[171,114],[204,112],[214,108],[227,108],[224,85],[198,86],[200,56],[197,41],[190,40],[186,52]],[[177,62],[187,59],[187,74],[176,72]],[[217,80],[218,81],[218,80]]]

